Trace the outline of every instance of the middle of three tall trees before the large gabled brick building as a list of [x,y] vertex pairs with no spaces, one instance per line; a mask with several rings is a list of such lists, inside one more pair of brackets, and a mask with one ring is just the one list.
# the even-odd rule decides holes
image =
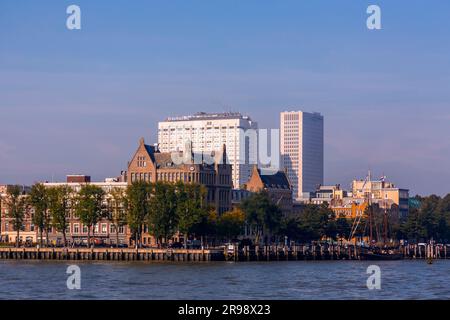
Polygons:
[[161,242],[172,237],[177,227],[177,195],[173,184],[158,181],[150,185],[149,230]]

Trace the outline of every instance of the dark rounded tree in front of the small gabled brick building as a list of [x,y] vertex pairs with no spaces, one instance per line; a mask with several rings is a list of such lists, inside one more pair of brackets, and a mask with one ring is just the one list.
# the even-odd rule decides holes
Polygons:
[[262,233],[273,234],[281,224],[281,209],[272,203],[268,193],[261,191],[242,201],[241,209],[247,223],[256,230],[256,242]]

